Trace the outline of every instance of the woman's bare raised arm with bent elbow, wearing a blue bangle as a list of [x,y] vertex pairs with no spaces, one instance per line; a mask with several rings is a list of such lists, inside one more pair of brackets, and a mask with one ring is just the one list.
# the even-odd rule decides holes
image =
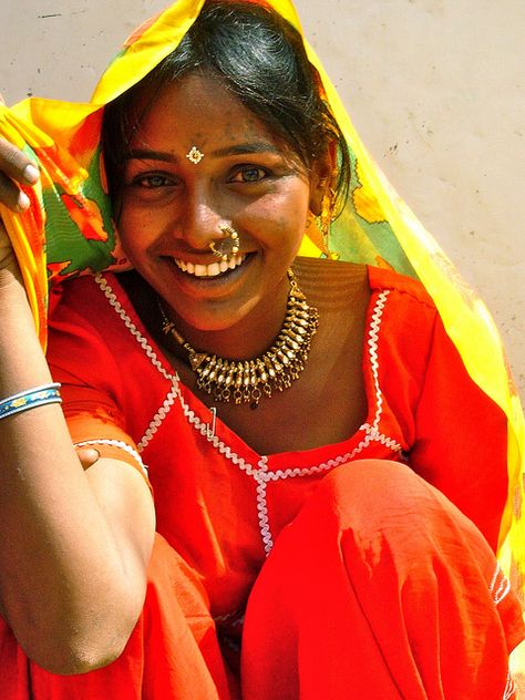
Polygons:
[[[0,328],[0,399],[50,382],[9,256]],[[73,673],[119,656],[143,605],[153,533],[144,480],[119,460],[84,473],[59,405],[0,421],[0,606],[37,663]]]

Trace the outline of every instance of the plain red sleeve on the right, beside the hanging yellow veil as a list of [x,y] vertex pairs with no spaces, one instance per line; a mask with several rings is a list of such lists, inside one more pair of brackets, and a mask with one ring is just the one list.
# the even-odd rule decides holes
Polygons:
[[508,486],[506,418],[469,377],[439,315],[409,460],[496,550]]

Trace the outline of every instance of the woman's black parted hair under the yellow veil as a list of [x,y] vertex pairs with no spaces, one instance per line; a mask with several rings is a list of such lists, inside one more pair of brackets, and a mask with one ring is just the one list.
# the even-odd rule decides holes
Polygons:
[[[197,72],[217,78],[307,168],[336,145],[336,198],[341,203],[346,199],[350,154],[299,32],[277,12],[241,0],[208,0],[179,45],[106,105],[103,152],[114,198],[119,198],[128,143],[144,110],[154,104],[155,94],[166,83]],[[153,99],[137,113],[138,97],[145,90]]]

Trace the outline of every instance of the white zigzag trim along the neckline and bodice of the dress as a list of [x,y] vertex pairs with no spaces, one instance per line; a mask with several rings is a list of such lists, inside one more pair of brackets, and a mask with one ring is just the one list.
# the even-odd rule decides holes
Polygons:
[[366,450],[372,442],[379,442],[390,450],[394,452],[402,452],[401,445],[384,435],[379,431],[379,422],[381,420],[383,398],[379,382],[379,356],[378,356],[378,341],[379,341],[379,331],[381,327],[381,319],[384,306],[387,303],[388,296],[390,290],[383,290],[375,302],[375,307],[372,313],[372,321],[370,323],[369,339],[367,344],[369,347],[369,357],[370,364],[372,368],[372,375],[374,382],[374,392],[375,392],[375,413],[373,424],[364,423],[359,428],[360,431],[364,432],[364,437],[359,442],[359,444],[351,451],[346,454],[341,454],[334,459],[328,460],[328,462],[322,462],[321,464],[313,464],[307,467],[288,467],[286,470],[277,470],[275,472],[268,471],[268,457],[261,456],[258,463],[258,469],[253,464],[247,462],[244,457],[239,456],[236,452],[231,450],[229,445],[223,442],[217,435],[212,435],[209,431],[209,424],[203,422],[195,412],[192,411],[184,400],[181,387],[179,387],[179,378],[177,372],[171,373],[168,372],[162,362],[158,360],[155,351],[147,342],[146,338],[141,333],[141,331],[133,323],[126,311],[123,309],[121,302],[117,300],[113,289],[107,284],[107,280],[102,277],[102,275],[95,276],[95,281],[100,286],[101,290],[104,292],[107,298],[110,305],[113,307],[117,316],[123,321],[124,326],[132,333],[135,340],[138,342],[152,364],[156,368],[156,370],[172,384],[169,392],[166,395],[166,399],[163,405],[158,409],[157,413],[152,419],[148,429],[146,430],[144,436],[138,443],[141,450],[143,450],[154,437],[159,425],[168,414],[171,408],[174,404],[175,399],[178,400],[181,408],[183,410],[183,414],[188,421],[189,425],[194,430],[196,430],[200,435],[212,443],[213,447],[219,452],[226,460],[229,460],[233,464],[235,464],[241,472],[244,472],[247,476],[254,478],[257,484],[257,517],[259,522],[260,536],[262,539],[262,545],[265,547],[265,552],[268,555],[271,552],[274,546],[274,539],[271,536],[270,524],[268,518],[268,503],[267,503],[267,484],[268,482],[277,482],[279,480],[286,478],[296,478],[301,476],[313,476],[316,474],[320,474],[323,472],[329,472],[336,466],[340,464],[346,464],[347,462],[352,461],[358,454],[360,454],[363,450]]

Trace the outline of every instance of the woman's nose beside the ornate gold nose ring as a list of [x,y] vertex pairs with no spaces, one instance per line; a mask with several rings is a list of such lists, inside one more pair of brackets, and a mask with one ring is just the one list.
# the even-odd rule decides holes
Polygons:
[[182,235],[188,247],[204,250],[213,240],[225,237],[220,208],[219,198],[208,187],[197,186],[187,193]]

